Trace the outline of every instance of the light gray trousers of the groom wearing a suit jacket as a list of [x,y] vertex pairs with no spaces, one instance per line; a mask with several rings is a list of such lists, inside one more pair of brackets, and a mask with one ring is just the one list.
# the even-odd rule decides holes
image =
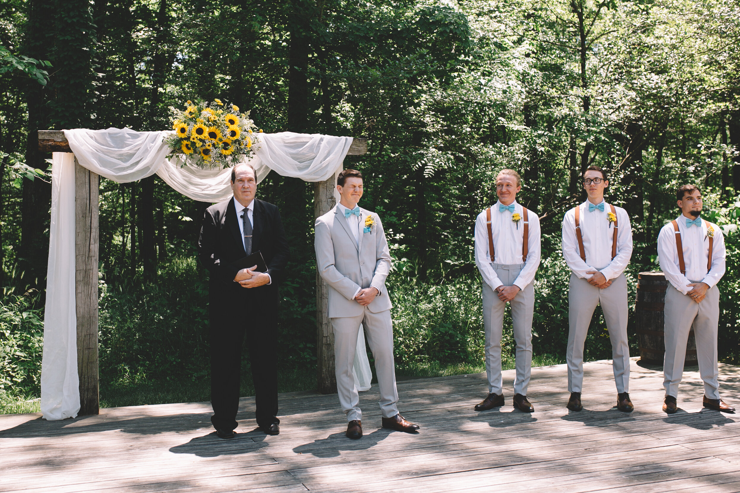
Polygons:
[[398,391],[396,390],[396,369],[393,361],[391,310],[372,313],[368,307],[363,307],[363,313],[358,316],[344,316],[330,320],[334,327],[334,364],[339,404],[347,415],[347,421],[363,418],[360,397],[357,394],[357,387],[354,386],[352,375],[360,324],[363,324],[365,328],[365,335],[375,359],[375,373],[380,389],[380,412],[383,418],[392,418],[397,415]]

